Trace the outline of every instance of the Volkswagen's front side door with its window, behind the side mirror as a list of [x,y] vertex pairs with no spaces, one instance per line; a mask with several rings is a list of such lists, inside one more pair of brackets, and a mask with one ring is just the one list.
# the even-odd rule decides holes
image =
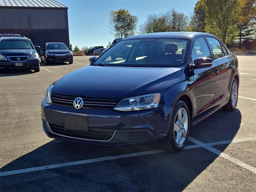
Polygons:
[[[202,57],[213,59],[203,36],[194,40],[190,64],[194,64],[194,60]],[[211,67],[195,69],[193,77],[195,84],[195,118],[193,121],[196,121],[218,107],[219,76],[217,63],[213,61]]]

